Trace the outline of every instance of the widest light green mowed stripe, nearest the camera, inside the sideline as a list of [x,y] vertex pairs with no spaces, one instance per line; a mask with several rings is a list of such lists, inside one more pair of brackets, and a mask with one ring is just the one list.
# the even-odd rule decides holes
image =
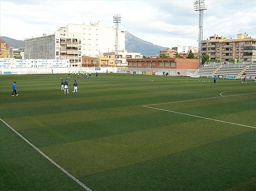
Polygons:
[[151,160],[249,131],[253,129],[198,120],[40,149],[75,176],[81,176]]

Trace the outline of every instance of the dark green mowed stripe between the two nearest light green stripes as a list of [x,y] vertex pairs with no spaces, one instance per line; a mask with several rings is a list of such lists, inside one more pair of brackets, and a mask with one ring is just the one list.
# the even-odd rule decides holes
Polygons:
[[28,137],[38,147],[43,147],[109,137],[150,128],[160,128],[170,124],[174,125],[195,120],[198,120],[198,118],[178,118],[177,115],[170,115],[168,112],[158,112],[103,120],[90,120],[85,123],[63,123],[44,128],[20,129],[19,132]]

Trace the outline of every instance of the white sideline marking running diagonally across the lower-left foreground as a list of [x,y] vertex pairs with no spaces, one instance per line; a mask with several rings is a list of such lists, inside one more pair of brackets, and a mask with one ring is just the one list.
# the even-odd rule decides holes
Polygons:
[[33,148],[35,148],[36,151],[38,151],[41,155],[43,155],[45,158],[47,158],[50,162],[52,162],[52,164],[54,164],[55,166],[57,166],[62,172],[64,172],[65,174],[67,174],[67,176],[69,176],[71,179],[73,179],[76,183],[78,183],[81,187],[83,187],[85,190],[87,191],[92,191],[90,188],[88,188],[86,185],[84,185],[82,182],[80,182],[76,177],[74,177],[73,175],[69,174],[68,171],[66,171],[64,168],[62,168],[60,165],[58,165],[56,162],[54,162],[50,157],[48,157],[46,154],[44,154],[39,148],[37,148],[35,145],[33,145],[32,143],[30,143],[25,137],[23,137],[21,134],[19,134],[14,128],[12,128],[9,124],[7,124],[4,120],[2,120],[0,118],[0,120],[6,124],[7,127],[9,127],[10,129],[12,129],[12,131],[14,131],[18,136],[20,136],[24,141],[26,141],[27,143],[29,143],[30,146],[32,146]]

